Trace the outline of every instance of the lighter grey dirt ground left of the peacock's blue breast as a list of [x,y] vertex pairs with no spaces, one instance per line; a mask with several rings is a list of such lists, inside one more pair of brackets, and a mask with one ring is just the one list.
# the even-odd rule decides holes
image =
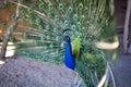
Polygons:
[[64,65],[55,65],[22,55],[9,59],[0,67],[0,87],[71,87],[75,73]]

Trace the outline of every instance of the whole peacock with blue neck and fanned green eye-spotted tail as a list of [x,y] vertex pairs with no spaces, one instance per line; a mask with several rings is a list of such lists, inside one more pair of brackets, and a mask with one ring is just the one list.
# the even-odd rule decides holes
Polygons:
[[[10,16],[11,21],[19,21],[9,39],[16,52],[45,62],[64,63],[86,87],[100,87],[108,60],[116,58],[118,47],[114,46],[118,44],[114,0],[7,1],[3,10],[13,7],[17,13]],[[110,85],[109,76],[104,85]]]

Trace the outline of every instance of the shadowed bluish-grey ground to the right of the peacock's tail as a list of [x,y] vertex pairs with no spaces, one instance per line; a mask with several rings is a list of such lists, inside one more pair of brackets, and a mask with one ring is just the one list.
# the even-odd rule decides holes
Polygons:
[[112,64],[117,87],[131,87],[131,54],[118,52],[118,59]]

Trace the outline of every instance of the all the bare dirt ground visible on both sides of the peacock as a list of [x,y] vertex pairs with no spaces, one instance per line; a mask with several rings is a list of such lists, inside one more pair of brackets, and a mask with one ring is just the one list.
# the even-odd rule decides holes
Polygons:
[[[131,87],[131,55],[118,50],[112,62],[117,87]],[[0,66],[0,87],[72,87],[75,73],[63,64],[55,65],[15,55]],[[82,86],[83,87],[83,86]]]

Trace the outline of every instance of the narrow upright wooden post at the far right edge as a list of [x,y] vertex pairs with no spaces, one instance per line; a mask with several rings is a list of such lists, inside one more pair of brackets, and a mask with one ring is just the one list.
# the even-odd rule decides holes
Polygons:
[[124,32],[123,32],[123,53],[128,53],[128,32],[129,32],[129,18],[131,14],[131,0],[127,3],[127,14],[124,21]]

